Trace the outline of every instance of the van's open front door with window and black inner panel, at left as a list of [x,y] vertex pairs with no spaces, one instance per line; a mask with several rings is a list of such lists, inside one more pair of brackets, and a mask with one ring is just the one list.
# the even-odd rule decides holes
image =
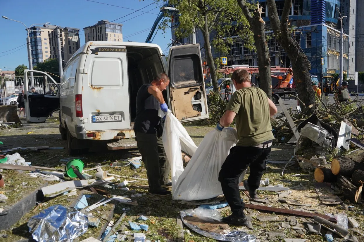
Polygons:
[[[33,73],[35,92],[29,86],[28,75]],[[47,117],[59,109],[60,88],[54,79],[42,71],[24,71],[24,102],[27,123],[44,123]],[[53,90],[52,90],[53,89]]]

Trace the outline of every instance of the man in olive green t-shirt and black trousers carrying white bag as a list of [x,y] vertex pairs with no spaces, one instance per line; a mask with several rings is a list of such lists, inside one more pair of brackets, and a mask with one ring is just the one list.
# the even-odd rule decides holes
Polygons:
[[232,215],[223,221],[234,225],[245,225],[245,205],[239,192],[239,177],[250,168],[248,180],[244,187],[250,198],[258,198],[256,190],[265,170],[266,157],[274,140],[270,116],[277,113],[277,107],[261,89],[252,87],[250,75],[246,70],[236,70],[232,75],[236,92],[227,104],[225,114],[216,128],[222,131],[230,126],[235,118],[238,133],[236,146],[230,149],[229,155],[219,172],[221,188],[230,206]]

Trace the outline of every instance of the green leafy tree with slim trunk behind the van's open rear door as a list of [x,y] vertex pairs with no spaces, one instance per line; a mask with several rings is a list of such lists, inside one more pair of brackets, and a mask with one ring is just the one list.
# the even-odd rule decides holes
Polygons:
[[[222,56],[229,53],[229,46],[233,44],[231,36],[241,36],[245,46],[252,46],[252,32],[249,23],[242,14],[236,0],[159,0],[163,4],[174,5],[178,10],[179,24],[175,26],[177,39],[187,37],[193,30],[201,30],[205,42],[207,63],[214,91],[218,90],[217,68],[214,63],[211,45],[215,52]],[[159,29],[167,31],[171,23],[171,16],[166,16],[159,25]],[[211,40],[211,33],[214,39]],[[233,34],[233,35],[232,35]]]

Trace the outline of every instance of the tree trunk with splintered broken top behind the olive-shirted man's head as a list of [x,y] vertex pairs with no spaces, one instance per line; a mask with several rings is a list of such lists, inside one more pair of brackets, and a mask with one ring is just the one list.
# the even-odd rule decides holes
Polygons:
[[265,22],[261,17],[262,7],[257,3],[257,10],[253,16],[250,14],[245,0],[237,0],[240,8],[244,12],[246,19],[249,21],[250,28],[253,30],[254,42],[257,48],[258,69],[259,69],[259,87],[272,99],[272,76],[270,72],[270,57],[268,45],[265,37]]

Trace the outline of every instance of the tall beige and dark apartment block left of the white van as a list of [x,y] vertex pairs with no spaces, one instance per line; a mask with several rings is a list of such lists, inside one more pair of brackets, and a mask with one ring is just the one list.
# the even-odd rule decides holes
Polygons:
[[[56,25],[33,26],[29,33],[33,66],[47,59],[62,58],[63,66],[80,47],[79,30]],[[61,57],[58,56],[57,29],[60,33]],[[74,38],[74,36],[76,36]]]

